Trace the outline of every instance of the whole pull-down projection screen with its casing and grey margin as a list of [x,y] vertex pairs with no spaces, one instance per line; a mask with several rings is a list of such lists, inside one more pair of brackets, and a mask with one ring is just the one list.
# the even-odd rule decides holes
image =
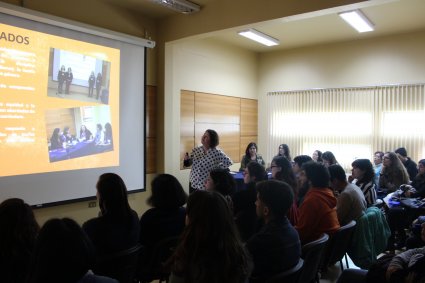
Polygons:
[[0,201],[145,189],[146,48],[154,42],[0,5]]

